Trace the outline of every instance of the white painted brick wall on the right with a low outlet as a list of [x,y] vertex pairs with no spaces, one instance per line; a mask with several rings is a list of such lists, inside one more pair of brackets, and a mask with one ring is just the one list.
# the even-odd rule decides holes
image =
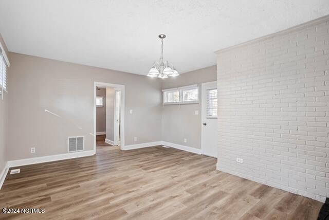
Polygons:
[[328,31],[329,17],[217,52],[218,170],[329,197]]

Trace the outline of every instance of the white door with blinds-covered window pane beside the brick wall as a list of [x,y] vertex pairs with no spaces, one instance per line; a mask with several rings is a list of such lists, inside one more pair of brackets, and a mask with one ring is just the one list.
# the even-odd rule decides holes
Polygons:
[[202,84],[202,152],[217,158],[217,82]]

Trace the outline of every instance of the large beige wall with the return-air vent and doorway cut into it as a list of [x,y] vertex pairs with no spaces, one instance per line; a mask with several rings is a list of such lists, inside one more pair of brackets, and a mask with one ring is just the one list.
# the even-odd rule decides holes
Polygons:
[[12,52],[9,58],[8,160],[66,153],[67,136],[85,136],[92,150],[94,81],[125,85],[126,145],[161,140],[160,80]]

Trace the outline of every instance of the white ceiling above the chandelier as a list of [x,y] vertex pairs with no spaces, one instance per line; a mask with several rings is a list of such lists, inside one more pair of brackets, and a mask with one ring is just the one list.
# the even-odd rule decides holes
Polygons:
[[328,0],[1,0],[9,51],[146,75],[160,56],[179,72],[215,50],[329,14]]

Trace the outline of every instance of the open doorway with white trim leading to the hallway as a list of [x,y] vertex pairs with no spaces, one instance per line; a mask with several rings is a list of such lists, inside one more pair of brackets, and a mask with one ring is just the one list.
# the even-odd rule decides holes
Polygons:
[[124,85],[94,82],[94,153],[124,146]]

